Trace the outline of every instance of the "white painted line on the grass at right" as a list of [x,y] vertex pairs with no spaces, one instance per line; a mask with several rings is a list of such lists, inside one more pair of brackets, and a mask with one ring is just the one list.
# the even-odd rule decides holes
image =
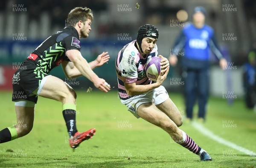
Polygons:
[[250,156],[254,156],[256,157],[256,153],[253,151],[250,151],[246,148],[243,148],[239,145],[234,144],[233,142],[227,141],[226,139],[221,138],[220,136],[215,135],[214,133],[212,133],[212,131],[208,130],[206,127],[204,127],[204,125],[201,125],[199,123],[196,122],[192,122],[192,126],[195,127],[199,132],[201,132],[202,134],[206,135],[207,137],[223,144],[226,146],[229,146],[230,148],[236,149],[244,154],[250,155]]

